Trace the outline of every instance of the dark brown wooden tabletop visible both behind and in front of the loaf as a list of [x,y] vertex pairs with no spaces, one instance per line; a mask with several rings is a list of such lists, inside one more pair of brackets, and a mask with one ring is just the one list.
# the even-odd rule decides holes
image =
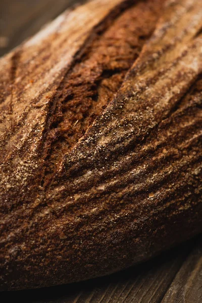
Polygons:
[[[0,2],[0,55],[10,51],[71,0]],[[3,37],[3,38],[1,38]],[[7,45],[6,45],[7,44]],[[177,232],[177,231],[176,231]],[[200,303],[202,302],[202,236],[187,241],[139,266],[77,284],[5,292],[2,302],[27,303]]]

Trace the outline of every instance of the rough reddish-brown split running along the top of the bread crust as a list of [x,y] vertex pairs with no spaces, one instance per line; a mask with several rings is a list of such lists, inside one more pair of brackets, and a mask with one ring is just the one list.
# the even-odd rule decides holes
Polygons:
[[[157,3],[157,2],[156,2]],[[54,142],[42,183],[51,180],[63,155],[76,144],[120,88],[142,45],[154,31],[162,1],[140,2],[126,10],[83,51],[55,96]]]

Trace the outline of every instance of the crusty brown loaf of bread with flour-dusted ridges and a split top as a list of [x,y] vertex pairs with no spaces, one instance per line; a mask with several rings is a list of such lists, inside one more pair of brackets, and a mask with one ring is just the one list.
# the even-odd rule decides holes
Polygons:
[[202,231],[202,2],[93,0],[0,60],[1,289]]

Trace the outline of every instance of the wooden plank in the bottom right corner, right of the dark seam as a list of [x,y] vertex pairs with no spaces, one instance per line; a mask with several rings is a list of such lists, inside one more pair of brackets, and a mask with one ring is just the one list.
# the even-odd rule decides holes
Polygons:
[[202,302],[202,237],[177,273],[162,303]]

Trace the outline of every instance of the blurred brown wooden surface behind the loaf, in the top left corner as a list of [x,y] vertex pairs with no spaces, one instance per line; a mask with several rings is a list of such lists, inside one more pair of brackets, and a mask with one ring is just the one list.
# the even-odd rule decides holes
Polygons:
[[24,39],[36,33],[44,24],[76,3],[78,3],[76,0],[0,2],[0,56],[9,52]]

